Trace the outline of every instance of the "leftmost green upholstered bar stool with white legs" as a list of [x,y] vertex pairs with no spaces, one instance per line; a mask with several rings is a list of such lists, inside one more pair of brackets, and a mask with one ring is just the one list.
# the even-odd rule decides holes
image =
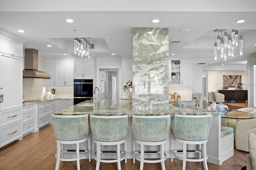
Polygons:
[[[88,126],[88,115],[52,115],[52,128],[57,142],[56,166],[58,170],[60,161],[77,161],[77,169],[80,170],[80,159],[90,157],[90,129]],[[86,142],[88,150],[80,152],[79,144]],[[76,144],[76,158],[64,158],[63,144]],[[80,156],[82,154],[82,156]]]

